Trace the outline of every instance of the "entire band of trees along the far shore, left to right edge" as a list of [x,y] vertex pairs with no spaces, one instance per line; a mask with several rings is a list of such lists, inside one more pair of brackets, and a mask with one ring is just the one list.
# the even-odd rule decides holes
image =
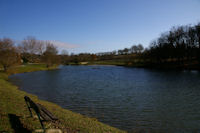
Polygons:
[[153,40],[149,47],[142,44],[101,53],[69,54],[51,42],[27,37],[18,45],[9,38],[0,39],[0,64],[5,71],[21,63],[79,64],[80,62],[117,61],[141,67],[196,66],[200,64],[200,23],[171,28]]

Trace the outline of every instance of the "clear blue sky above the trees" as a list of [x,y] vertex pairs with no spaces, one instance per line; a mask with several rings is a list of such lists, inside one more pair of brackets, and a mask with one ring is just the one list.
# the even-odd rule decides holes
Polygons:
[[147,47],[172,26],[197,22],[200,0],[0,0],[0,38],[34,36],[74,53]]

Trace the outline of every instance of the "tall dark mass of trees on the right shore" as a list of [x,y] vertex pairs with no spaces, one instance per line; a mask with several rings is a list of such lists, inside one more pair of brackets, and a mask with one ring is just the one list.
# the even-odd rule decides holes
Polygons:
[[143,56],[149,64],[197,65],[200,63],[200,23],[173,27],[151,42]]

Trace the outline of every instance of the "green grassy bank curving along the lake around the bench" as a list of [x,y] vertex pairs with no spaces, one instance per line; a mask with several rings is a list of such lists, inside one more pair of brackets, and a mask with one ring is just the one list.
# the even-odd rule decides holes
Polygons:
[[[53,67],[55,68],[55,67]],[[51,68],[51,69],[53,69]],[[44,105],[60,122],[51,125],[51,128],[60,128],[64,132],[83,132],[83,133],[121,133],[119,129],[105,125],[94,118],[88,118],[78,113],[63,109],[60,106],[42,101],[37,96],[28,94],[18,89],[8,81],[8,75],[13,73],[31,72],[47,70],[45,65],[25,65],[15,67],[8,73],[0,72],[0,132],[34,132],[40,129],[37,118],[29,117],[29,112],[24,102],[24,96],[29,96],[33,101]],[[18,131],[19,132],[19,131]]]

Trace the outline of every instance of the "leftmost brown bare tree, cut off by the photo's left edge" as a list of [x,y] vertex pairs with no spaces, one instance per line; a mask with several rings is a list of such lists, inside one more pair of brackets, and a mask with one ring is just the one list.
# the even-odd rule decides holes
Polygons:
[[4,71],[19,62],[19,55],[9,38],[0,39],[0,64]]

